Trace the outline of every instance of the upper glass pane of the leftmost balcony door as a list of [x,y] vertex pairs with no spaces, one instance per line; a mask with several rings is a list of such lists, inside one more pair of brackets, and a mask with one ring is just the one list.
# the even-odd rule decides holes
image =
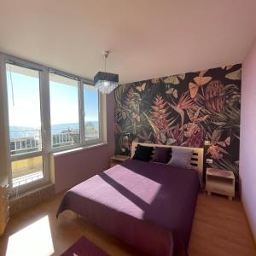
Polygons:
[[42,150],[39,72],[6,64],[10,153]]

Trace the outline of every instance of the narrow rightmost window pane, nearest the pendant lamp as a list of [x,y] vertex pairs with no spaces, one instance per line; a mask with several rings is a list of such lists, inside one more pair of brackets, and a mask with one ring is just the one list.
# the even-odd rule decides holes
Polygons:
[[99,92],[92,85],[84,84],[84,140],[99,140]]

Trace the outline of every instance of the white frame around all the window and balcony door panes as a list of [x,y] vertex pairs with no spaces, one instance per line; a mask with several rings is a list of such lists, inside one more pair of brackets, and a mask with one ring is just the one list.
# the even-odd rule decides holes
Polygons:
[[[41,151],[15,154],[11,155],[10,153],[10,137],[9,137],[9,105],[8,105],[8,91],[7,91],[7,76],[6,76],[6,64],[13,64],[20,67],[26,67],[30,69],[35,69],[39,72],[39,93],[40,93],[40,113],[41,113],[41,131],[42,131],[42,143],[44,147]],[[78,144],[64,146],[60,148],[52,148],[51,145],[51,125],[50,125],[50,94],[49,94],[49,73],[56,73],[61,76],[65,76],[70,79],[78,80],[78,95],[79,95],[79,133],[80,141]],[[2,78],[1,78],[2,77]],[[98,104],[99,104],[99,138],[96,140],[85,141],[84,137],[84,84],[94,86],[93,81],[90,79],[84,79],[82,77],[73,75],[71,73],[62,72],[60,70],[45,67],[39,65],[32,61],[25,61],[23,59],[5,55],[0,53],[0,84],[2,85],[3,96],[0,96],[0,100],[3,100],[3,123],[4,123],[4,143],[5,143],[5,165],[8,169],[8,179],[11,195],[17,195],[29,191],[31,189],[38,188],[38,186],[43,186],[47,183],[50,183],[50,155],[62,151],[67,151],[74,148],[87,148],[93,145],[99,145],[107,143],[107,136],[103,136],[103,127],[106,127],[106,124],[103,125],[103,111],[106,111],[105,105],[106,99],[105,96],[102,96],[102,93],[98,92]],[[85,103],[86,104],[86,103]],[[102,109],[104,108],[104,110]],[[104,119],[106,121],[106,119]],[[23,160],[27,158],[32,158],[35,156],[42,156],[43,165],[44,165],[44,177],[33,181],[31,183],[26,183],[20,186],[17,186],[13,189],[13,178],[11,170],[11,162],[14,160]]]

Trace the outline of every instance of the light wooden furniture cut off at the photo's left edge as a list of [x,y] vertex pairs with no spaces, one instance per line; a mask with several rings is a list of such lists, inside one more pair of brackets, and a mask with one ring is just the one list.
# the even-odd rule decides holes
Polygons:
[[0,186],[0,236],[3,235],[9,221],[8,185]]

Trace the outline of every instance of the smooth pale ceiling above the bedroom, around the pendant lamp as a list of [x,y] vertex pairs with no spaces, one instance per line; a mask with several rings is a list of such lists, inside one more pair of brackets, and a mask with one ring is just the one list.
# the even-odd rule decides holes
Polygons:
[[255,0],[0,0],[0,52],[121,83],[241,62]]

